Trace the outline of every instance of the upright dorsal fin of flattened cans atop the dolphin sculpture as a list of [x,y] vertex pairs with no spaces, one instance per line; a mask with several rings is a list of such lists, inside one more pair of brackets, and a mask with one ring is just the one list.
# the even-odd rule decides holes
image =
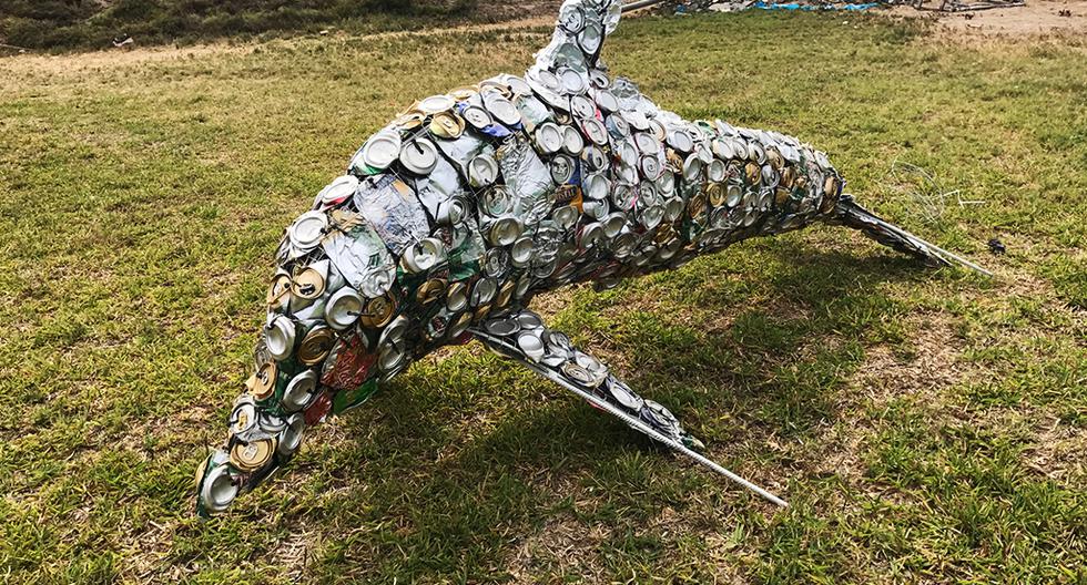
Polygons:
[[566,0],[559,9],[551,42],[536,53],[536,64],[555,71],[587,72],[597,66],[605,39],[614,32],[622,0]]

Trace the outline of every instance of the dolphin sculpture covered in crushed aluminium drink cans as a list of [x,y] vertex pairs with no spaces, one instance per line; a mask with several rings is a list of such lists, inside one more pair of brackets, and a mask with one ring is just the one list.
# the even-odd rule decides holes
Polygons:
[[857,205],[824,153],[776,132],[684,121],[610,76],[600,52],[622,9],[567,0],[524,76],[417,102],[286,229],[253,374],[223,448],[197,472],[201,515],[285,465],[308,428],[470,339],[785,505],[700,454],[667,408],[547,328],[532,297],[612,287],[813,223],[984,273]]

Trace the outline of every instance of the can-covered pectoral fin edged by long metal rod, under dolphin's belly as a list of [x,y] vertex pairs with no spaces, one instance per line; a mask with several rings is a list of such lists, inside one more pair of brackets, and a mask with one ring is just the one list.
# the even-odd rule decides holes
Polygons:
[[704,445],[684,431],[668,409],[639,397],[629,386],[611,374],[600,360],[573,347],[565,333],[546,328],[535,312],[520,310],[495,317],[470,331],[491,351],[520,362],[583,398],[593,407],[618,418],[631,429],[664,443],[774,504],[789,505],[776,495],[694,451]]

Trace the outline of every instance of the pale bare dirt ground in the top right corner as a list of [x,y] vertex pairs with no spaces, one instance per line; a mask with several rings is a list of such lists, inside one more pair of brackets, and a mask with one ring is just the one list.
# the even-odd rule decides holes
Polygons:
[[[1071,16],[1060,16],[1068,11]],[[1026,6],[966,12],[937,12],[897,7],[891,14],[932,19],[939,37],[1049,37],[1087,34],[1087,0],[1027,0]]]

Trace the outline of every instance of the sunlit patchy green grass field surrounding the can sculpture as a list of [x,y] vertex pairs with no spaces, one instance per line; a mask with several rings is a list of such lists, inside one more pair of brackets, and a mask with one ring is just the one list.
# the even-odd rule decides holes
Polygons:
[[[474,343],[194,517],[282,227],[413,99],[547,34],[0,60],[0,581],[1087,582],[1087,44],[854,16],[633,19],[609,63],[820,145],[995,279],[813,228],[538,306],[792,507]],[[984,203],[921,223],[896,158]]]

